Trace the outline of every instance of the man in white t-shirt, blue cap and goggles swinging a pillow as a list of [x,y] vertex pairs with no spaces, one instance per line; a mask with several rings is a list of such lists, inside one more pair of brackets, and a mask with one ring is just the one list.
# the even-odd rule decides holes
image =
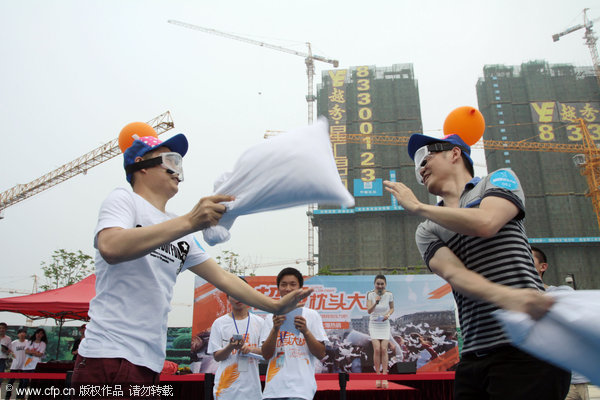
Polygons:
[[[133,137],[123,153],[133,191],[119,188],[104,200],[94,232],[96,296],[75,360],[72,382],[79,389],[159,382],[173,286],[186,269],[246,304],[271,312],[293,309],[310,294],[298,290],[275,301],[223,270],[193,233],[217,224],[226,211],[220,203],[233,197],[205,197],[183,216],[167,212],[166,204],[183,180],[188,141],[183,134],[165,142],[155,136]],[[131,395],[127,389],[123,392]],[[80,390],[77,396],[87,395]]]

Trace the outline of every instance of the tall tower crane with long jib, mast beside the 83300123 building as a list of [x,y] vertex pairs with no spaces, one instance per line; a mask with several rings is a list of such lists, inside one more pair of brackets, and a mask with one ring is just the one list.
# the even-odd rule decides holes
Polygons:
[[[296,50],[292,50],[292,49],[288,49],[285,47],[281,47],[281,46],[277,46],[274,44],[269,44],[269,43],[265,43],[265,42],[261,42],[258,40],[254,40],[254,39],[249,39],[249,38],[245,38],[243,36],[238,36],[238,35],[233,35],[231,33],[226,33],[226,32],[221,32],[218,31],[216,29],[211,29],[211,28],[204,28],[198,25],[192,25],[192,24],[188,24],[186,22],[181,22],[181,21],[176,21],[176,20],[168,20],[167,22],[169,22],[170,24],[173,25],[178,25],[178,26],[182,26],[184,28],[189,28],[189,29],[194,29],[197,31],[201,31],[201,32],[205,32],[205,33],[211,33],[213,35],[218,35],[218,36],[222,36],[228,39],[234,39],[234,40],[239,40],[241,42],[245,42],[245,43],[249,43],[249,44],[254,44],[256,46],[260,46],[260,47],[266,47],[268,49],[272,49],[272,50],[277,50],[277,51],[283,51],[284,53],[288,53],[288,54],[293,54],[296,56],[300,56],[300,57],[304,57],[304,62],[306,64],[306,76],[308,77],[308,91],[306,94],[306,102],[308,104],[308,124],[312,124],[313,122],[313,108],[314,108],[314,102],[317,99],[316,96],[314,95],[314,91],[313,91],[313,86],[314,86],[314,76],[315,76],[315,63],[314,61],[321,61],[321,62],[325,62],[328,64],[332,64],[334,66],[334,68],[337,68],[339,65],[339,61],[338,60],[332,60],[326,57],[321,57],[318,56],[316,54],[312,53],[312,49],[311,49],[311,45],[309,42],[306,43],[307,47],[308,47],[308,52],[304,53],[301,51],[296,51]],[[311,204],[308,206],[308,275],[314,275],[315,274],[315,233],[314,233],[314,226],[312,224],[311,221],[311,216],[313,214],[313,211],[315,209],[314,204]]]

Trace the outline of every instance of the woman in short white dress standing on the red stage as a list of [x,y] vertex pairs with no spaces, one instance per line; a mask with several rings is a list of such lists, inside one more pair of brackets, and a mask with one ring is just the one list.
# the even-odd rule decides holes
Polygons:
[[[394,313],[394,296],[385,290],[385,276],[375,277],[374,290],[367,293],[367,312],[369,317],[369,335],[373,343],[373,368],[377,374],[388,373],[387,347],[390,339],[390,315]],[[377,380],[376,387],[388,387],[386,380]]]

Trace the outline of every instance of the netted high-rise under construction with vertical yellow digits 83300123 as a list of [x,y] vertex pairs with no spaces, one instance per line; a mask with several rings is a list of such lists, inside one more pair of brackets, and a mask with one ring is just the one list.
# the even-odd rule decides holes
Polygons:
[[314,210],[320,270],[405,273],[407,267],[423,266],[415,244],[422,218],[405,212],[383,189],[384,180],[408,182],[421,201],[431,202],[415,180],[406,147],[390,145],[422,132],[412,65],[324,71],[321,82],[317,112],[329,120],[338,171],[356,206]]

